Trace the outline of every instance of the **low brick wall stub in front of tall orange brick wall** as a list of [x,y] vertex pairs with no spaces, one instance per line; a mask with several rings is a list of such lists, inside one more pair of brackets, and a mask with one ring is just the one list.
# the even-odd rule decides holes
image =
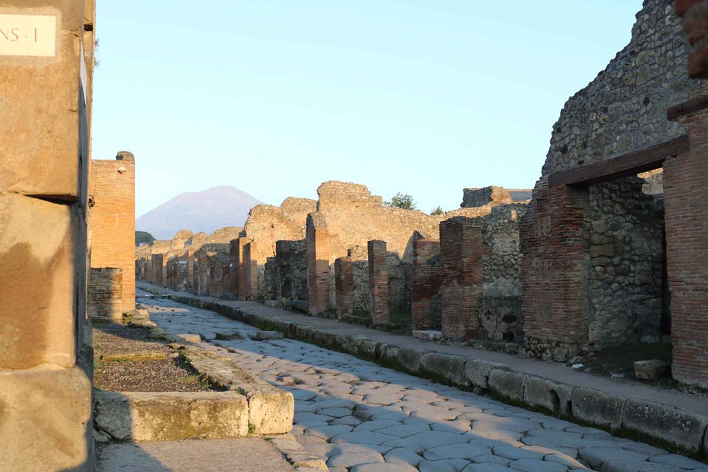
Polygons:
[[123,271],[118,267],[91,267],[89,271],[89,318],[121,321]]

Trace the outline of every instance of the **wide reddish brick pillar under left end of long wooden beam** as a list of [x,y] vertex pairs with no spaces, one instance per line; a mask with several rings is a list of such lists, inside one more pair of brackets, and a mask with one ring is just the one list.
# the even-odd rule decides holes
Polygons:
[[586,188],[546,188],[539,182],[521,222],[525,347],[532,355],[565,359],[588,340],[583,317],[589,254],[581,229]]

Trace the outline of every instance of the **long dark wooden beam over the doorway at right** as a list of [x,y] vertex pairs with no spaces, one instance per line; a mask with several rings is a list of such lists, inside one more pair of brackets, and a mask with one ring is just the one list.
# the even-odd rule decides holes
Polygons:
[[688,135],[682,134],[668,141],[625,154],[617,154],[600,162],[552,173],[548,178],[548,187],[590,185],[653,171],[663,166],[666,158],[683,154],[688,149],[690,149]]

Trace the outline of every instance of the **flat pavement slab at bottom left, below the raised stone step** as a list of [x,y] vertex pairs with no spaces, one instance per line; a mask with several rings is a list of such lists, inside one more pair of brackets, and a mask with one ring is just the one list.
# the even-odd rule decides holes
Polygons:
[[[293,472],[264,439],[122,442],[101,447],[98,472]],[[299,469],[303,470],[303,469]]]

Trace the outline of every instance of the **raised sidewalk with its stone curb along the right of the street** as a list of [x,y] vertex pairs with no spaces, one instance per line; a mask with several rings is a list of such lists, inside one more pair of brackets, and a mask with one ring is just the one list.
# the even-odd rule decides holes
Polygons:
[[708,458],[708,399],[615,381],[537,359],[473,347],[441,345],[404,335],[312,318],[252,301],[227,301],[139,284],[147,292],[215,311],[261,329],[278,330],[387,367],[484,391],[508,403]]

